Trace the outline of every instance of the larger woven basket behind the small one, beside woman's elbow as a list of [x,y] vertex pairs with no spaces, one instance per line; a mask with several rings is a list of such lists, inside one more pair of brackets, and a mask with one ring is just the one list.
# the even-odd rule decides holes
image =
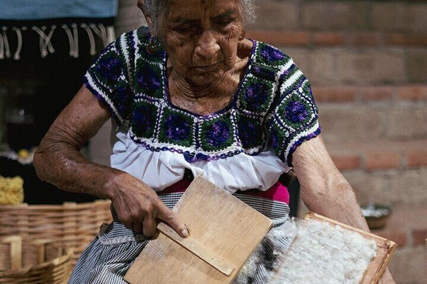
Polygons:
[[63,205],[0,206],[0,237],[19,235],[50,239],[70,248],[74,266],[83,250],[94,239],[103,223],[112,220],[109,200]]

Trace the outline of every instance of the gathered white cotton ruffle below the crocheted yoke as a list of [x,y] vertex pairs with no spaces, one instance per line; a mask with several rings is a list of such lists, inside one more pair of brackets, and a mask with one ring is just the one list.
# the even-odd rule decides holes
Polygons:
[[151,151],[130,137],[128,127],[113,123],[111,166],[144,181],[159,192],[180,181],[185,169],[202,175],[224,190],[235,193],[257,188],[266,191],[283,172],[289,171],[272,150],[256,156],[239,153],[227,158],[190,163],[184,155],[169,150]]

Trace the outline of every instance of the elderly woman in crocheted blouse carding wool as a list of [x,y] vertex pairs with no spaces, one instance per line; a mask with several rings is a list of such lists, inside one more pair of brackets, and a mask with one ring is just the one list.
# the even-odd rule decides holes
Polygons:
[[[286,230],[294,169],[307,207],[368,230],[350,185],[320,137],[310,83],[289,56],[245,37],[251,0],[139,0],[149,29],[123,34],[90,67],[34,159],[39,176],[66,191],[112,201],[113,222],[82,254],[70,283],[121,283],[156,232],[185,237],[170,210],[201,174]],[[111,167],[80,147],[113,118]],[[227,206],[226,204],[224,206]],[[265,283],[273,250],[236,282]],[[389,278],[390,279],[390,278]]]

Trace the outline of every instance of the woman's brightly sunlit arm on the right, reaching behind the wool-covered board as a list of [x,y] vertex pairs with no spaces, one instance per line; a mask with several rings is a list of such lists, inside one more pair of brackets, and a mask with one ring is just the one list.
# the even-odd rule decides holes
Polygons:
[[[301,198],[310,211],[369,232],[350,184],[336,168],[320,135],[302,143],[292,159]],[[394,283],[388,269],[380,283]]]

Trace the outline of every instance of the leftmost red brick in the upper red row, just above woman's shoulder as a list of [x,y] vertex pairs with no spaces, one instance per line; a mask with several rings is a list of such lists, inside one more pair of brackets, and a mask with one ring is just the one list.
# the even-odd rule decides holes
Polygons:
[[272,45],[307,45],[310,42],[308,32],[248,31],[247,36]]

